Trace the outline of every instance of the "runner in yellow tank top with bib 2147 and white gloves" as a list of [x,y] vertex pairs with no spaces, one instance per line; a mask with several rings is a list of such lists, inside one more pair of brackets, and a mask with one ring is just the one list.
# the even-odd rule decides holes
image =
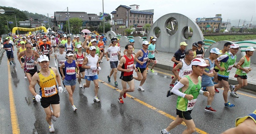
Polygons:
[[[49,67],[49,59],[46,55],[41,55],[38,58],[39,65],[41,67],[32,77],[29,85],[30,92],[35,96],[37,102],[41,102],[41,106],[46,113],[46,121],[49,124],[50,133],[54,132],[54,124],[51,120],[56,121],[60,117],[60,96],[59,92],[62,92],[61,78],[56,68]],[[57,83],[59,85],[57,90]],[[35,92],[36,83],[40,86],[40,95]],[[51,106],[53,111],[51,111]]]

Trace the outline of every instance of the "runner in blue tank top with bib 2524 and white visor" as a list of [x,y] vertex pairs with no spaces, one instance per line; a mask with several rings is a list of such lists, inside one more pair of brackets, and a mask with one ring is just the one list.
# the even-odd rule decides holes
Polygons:
[[[60,70],[62,75],[62,80],[64,81],[64,85],[68,92],[68,99],[69,102],[72,105],[73,111],[76,111],[77,108],[74,106],[74,99],[73,99],[73,93],[75,89],[76,84],[76,78],[79,77],[79,67],[78,64],[74,59],[74,52],[68,50],[66,53],[67,61],[65,61],[63,64],[61,64]],[[65,67],[65,75],[63,72],[63,68]],[[75,68],[77,69],[77,74],[75,74]]]

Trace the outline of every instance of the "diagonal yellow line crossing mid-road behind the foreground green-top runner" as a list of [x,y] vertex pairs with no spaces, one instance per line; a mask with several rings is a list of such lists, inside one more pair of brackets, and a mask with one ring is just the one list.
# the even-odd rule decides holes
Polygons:
[[[99,82],[102,83],[103,81],[101,81],[101,80],[99,79]],[[105,84],[106,86],[108,86],[108,87],[110,87],[110,88],[112,88],[112,89],[115,89],[115,90],[118,91],[118,92],[121,92],[120,89],[118,89],[118,88],[116,88],[116,87],[114,87],[114,86],[112,86],[112,85],[110,85],[110,84],[108,84],[108,83],[103,83],[103,84]],[[176,119],[176,117],[174,117],[174,116],[172,116],[172,115],[170,115],[170,114],[168,114],[168,113],[165,113],[164,111],[162,111],[162,110],[160,110],[160,109],[158,109],[158,108],[155,108],[154,106],[151,106],[151,105],[149,105],[148,103],[143,102],[143,101],[141,101],[141,100],[135,98],[134,96],[129,95],[128,93],[126,93],[126,96],[129,97],[129,98],[132,98],[132,99],[135,100],[136,102],[139,102],[139,103],[141,103],[142,105],[144,105],[144,106],[146,106],[146,107],[148,107],[148,108],[150,108],[150,109],[152,109],[152,110],[154,110],[154,111],[156,111],[156,112],[158,112],[158,113],[160,113],[160,114],[162,114],[162,115],[164,115],[164,116],[166,116],[166,117],[168,117],[168,118],[170,118],[170,119],[172,119],[172,120],[175,120],[175,119]],[[187,126],[184,121],[182,122],[182,125],[183,125],[183,126]],[[201,130],[201,129],[199,129],[199,128],[195,128],[195,131],[196,131],[198,134],[208,134],[207,132],[204,132],[203,130]]]

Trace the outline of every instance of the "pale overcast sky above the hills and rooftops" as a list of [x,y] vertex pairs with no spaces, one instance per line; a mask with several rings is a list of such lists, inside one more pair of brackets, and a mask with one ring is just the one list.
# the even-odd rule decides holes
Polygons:
[[11,6],[21,11],[39,13],[49,17],[55,11],[111,13],[120,5],[140,5],[140,10],[154,9],[154,22],[168,13],[181,13],[192,20],[215,17],[222,14],[222,21],[231,21],[231,26],[251,21],[256,24],[256,0],[0,0],[0,6]]

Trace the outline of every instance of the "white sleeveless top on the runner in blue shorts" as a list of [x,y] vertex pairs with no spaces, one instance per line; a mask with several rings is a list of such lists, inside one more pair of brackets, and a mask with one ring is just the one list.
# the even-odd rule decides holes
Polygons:
[[[88,66],[97,66],[97,63],[98,63],[98,60],[99,60],[99,57],[98,56],[94,56],[92,57],[91,55],[88,55],[87,56],[88,58],[88,62],[86,65]],[[86,69],[85,70],[85,76],[95,76],[97,75],[97,69],[95,70],[92,70],[92,69]]]

